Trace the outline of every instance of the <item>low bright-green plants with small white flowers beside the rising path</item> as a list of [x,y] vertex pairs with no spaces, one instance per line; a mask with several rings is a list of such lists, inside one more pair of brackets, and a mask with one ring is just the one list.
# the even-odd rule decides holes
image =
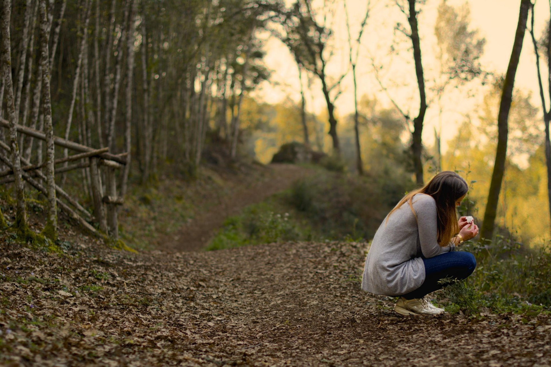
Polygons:
[[273,211],[267,203],[247,207],[239,216],[229,217],[220,232],[210,241],[207,250],[220,250],[244,245],[309,240],[311,232],[288,212]]

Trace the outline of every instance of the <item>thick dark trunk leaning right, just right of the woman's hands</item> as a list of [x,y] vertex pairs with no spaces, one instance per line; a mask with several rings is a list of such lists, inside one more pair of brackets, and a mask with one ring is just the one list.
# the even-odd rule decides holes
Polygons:
[[518,15],[518,24],[515,34],[515,41],[505,74],[503,83],[503,93],[498,114],[498,146],[495,152],[494,171],[491,174],[490,190],[488,192],[488,201],[484,211],[484,222],[480,239],[491,239],[494,233],[495,217],[498,209],[499,192],[501,182],[505,173],[505,160],[507,158],[507,133],[509,120],[509,110],[511,108],[513,88],[515,85],[515,74],[518,67],[518,59],[522,51],[522,41],[526,30],[526,21],[528,19],[528,10],[530,9],[530,0],[521,0],[520,13]]

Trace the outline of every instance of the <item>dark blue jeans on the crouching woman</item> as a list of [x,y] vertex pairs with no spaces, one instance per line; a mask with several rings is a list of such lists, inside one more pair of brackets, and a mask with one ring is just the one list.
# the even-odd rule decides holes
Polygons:
[[425,259],[422,256],[422,259],[425,264],[425,281],[414,291],[402,294],[402,297],[406,299],[423,298],[431,292],[449,286],[450,283],[438,283],[443,278],[466,279],[477,266],[474,255],[466,251],[452,251],[430,259]]

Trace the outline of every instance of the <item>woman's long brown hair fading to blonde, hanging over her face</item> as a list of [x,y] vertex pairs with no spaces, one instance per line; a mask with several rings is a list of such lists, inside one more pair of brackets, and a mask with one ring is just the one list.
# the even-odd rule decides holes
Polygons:
[[457,213],[455,204],[458,199],[467,194],[469,187],[467,182],[452,171],[442,171],[433,177],[422,188],[410,191],[398,202],[398,204],[388,213],[388,217],[397,211],[405,202],[408,202],[410,209],[417,220],[417,213],[413,209],[413,196],[417,194],[426,194],[433,197],[436,201],[437,214],[437,240],[442,247],[450,243],[453,235],[459,232],[457,224]]

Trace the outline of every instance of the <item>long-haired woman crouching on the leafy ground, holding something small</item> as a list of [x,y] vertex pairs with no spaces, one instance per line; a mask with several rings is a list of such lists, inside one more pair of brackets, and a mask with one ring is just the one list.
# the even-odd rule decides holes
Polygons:
[[461,176],[444,171],[404,196],[375,233],[361,288],[399,296],[394,310],[402,315],[444,312],[425,296],[444,286],[442,278],[462,280],[476,267],[471,253],[454,251],[478,234],[467,217],[457,221],[456,206],[467,190]]

